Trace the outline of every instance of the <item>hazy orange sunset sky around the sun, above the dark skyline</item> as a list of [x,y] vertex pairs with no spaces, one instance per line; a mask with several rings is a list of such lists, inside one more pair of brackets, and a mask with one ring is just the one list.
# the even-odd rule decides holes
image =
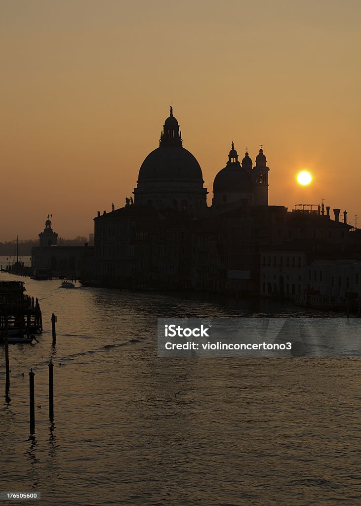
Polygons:
[[361,224],[360,12],[358,0],[2,2],[0,240],[37,237],[48,213],[63,237],[92,232],[98,209],[130,196],[170,101],[210,192],[232,140],[253,161],[262,143],[270,204],[324,198]]

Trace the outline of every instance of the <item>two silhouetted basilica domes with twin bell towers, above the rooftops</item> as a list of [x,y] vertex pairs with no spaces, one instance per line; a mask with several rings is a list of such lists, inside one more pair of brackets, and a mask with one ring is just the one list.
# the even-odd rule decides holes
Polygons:
[[214,179],[212,207],[207,207],[201,167],[193,154],[183,147],[179,124],[170,107],[159,148],[149,153],[141,165],[137,188],[134,188],[134,204],[151,205],[160,212],[181,211],[196,218],[242,205],[268,205],[268,171],[262,148],[252,168],[248,150],[241,164],[232,142],[227,165]]

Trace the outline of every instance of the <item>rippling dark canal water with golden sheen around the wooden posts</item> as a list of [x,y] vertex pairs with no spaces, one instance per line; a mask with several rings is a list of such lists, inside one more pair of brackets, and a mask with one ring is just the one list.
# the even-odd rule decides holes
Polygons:
[[[10,279],[18,278],[0,273]],[[310,314],[266,302],[67,290],[55,279],[20,279],[40,300],[44,332],[36,345],[10,345],[1,490],[40,491],[49,506],[359,503],[359,358],[157,358],[157,317]],[[4,363],[1,347],[3,389]]]

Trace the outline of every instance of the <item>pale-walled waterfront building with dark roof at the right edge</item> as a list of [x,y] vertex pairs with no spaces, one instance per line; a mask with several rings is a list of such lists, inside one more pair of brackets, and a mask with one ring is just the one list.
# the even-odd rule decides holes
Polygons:
[[327,239],[297,239],[262,250],[261,296],[321,309],[345,309],[347,301],[355,306],[361,299],[361,247],[354,242],[353,232],[346,236],[347,242],[337,240],[337,229],[333,234],[330,238],[325,234]]

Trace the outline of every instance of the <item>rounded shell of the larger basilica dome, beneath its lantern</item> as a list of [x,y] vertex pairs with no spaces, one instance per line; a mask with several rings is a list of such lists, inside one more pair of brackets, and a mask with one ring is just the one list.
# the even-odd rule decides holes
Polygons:
[[151,181],[204,183],[198,161],[180,146],[162,146],[149,153],[141,165],[138,185]]

